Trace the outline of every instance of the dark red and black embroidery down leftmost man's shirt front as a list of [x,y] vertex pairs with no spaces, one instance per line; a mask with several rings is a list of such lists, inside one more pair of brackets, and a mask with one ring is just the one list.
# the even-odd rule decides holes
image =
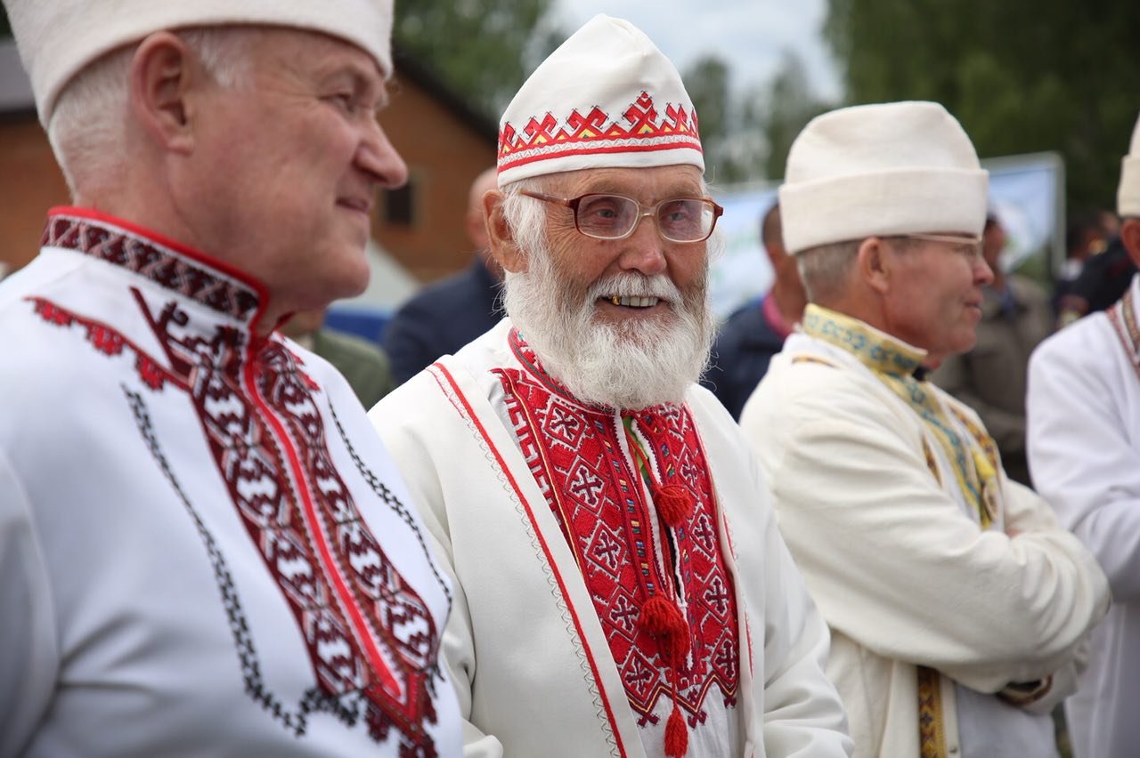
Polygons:
[[[227,326],[207,333],[194,328],[177,302],[155,314],[139,290],[132,294],[164,360],[107,324],[31,299],[46,321],[84,329],[104,354],[133,354],[135,369],[150,389],[173,386],[193,402],[234,508],[293,611],[317,681],[291,715],[266,692],[260,675],[251,678],[252,643],[239,644],[246,691],[299,734],[304,714],[331,710],[349,725],[364,720],[377,741],[386,741],[394,727],[401,756],[435,756],[424,723],[435,720],[440,631],[381,549],[336,471],[315,382],[280,343],[250,345],[244,331]],[[135,407],[138,419],[138,404]],[[157,450],[153,435],[148,444]],[[163,465],[186,503],[169,465]],[[212,544],[207,541],[207,547]],[[215,567],[215,574],[231,580],[228,571]],[[223,598],[236,598],[222,590]]]

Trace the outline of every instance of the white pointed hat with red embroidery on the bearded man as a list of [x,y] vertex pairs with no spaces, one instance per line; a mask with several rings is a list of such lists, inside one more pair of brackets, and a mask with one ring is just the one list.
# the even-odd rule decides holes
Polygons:
[[598,14],[523,83],[499,122],[499,187],[579,168],[705,171],[681,74],[644,32]]

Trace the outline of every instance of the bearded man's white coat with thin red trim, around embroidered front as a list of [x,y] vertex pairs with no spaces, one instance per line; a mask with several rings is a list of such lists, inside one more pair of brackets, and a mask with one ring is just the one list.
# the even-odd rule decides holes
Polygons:
[[[467,722],[465,755],[661,756],[658,717],[668,711],[646,716],[630,707],[629,669],[611,653],[584,576],[591,569],[576,562],[548,504],[552,485],[531,472],[536,447],[524,452],[516,435],[519,413],[507,409],[502,372],[530,369],[512,349],[511,331],[504,319],[369,413],[456,587],[445,660]],[[823,674],[826,632],[776,532],[755,459],[711,394],[694,385],[685,399],[706,454],[692,465],[710,477],[716,520],[684,528],[723,558],[739,628],[736,648],[723,651],[738,672],[735,702],[709,715],[732,732],[714,739],[705,728],[711,723],[690,719],[687,755],[847,755],[842,709]],[[614,429],[622,423],[619,413],[589,418]],[[552,422],[548,434],[561,430]],[[629,450],[618,460],[636,470]],[[586,488],[596,476],[617,477],[577,471]],[[708,698],[717,692],[710,686]]]

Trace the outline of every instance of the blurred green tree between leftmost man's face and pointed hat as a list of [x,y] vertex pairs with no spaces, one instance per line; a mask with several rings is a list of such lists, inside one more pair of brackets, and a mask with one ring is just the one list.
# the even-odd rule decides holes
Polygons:
[[396,3],[398,51],[435,72],[492,121],[534,65],[565,39],[552,0],[414,0]]

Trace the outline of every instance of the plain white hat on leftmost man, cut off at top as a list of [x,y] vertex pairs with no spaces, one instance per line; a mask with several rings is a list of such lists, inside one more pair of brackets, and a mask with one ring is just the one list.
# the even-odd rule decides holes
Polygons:
[[393,0],[5,0],[40,123],[84,66],[161,30],[288,26],[341,38],[392,73]]

